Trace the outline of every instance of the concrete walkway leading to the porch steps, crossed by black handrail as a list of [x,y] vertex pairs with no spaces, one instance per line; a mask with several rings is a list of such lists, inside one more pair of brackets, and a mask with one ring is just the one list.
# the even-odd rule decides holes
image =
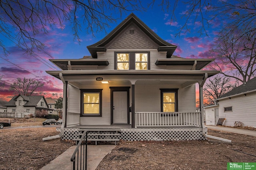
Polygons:
[[[106,154],[108,154],[115,147],[116,145],[88,145],[87,169],[95,170]],[[70,161],[70,158],[75,149],[76,146],[70,147],[40,170],[72,170],[73,162]]]

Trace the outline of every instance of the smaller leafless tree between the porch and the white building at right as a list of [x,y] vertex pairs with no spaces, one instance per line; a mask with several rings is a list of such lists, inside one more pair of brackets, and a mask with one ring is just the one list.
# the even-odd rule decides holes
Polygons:
[[220,74],[209,78],[204,84],[204,105],[214,104],[214,100],[233,90],[237,86],[237,81],[232,82],[230,77],[220,76]]

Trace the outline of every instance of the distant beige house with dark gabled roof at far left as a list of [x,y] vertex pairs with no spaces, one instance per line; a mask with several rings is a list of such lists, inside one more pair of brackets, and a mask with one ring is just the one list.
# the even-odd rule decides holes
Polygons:
[[15,117],[24,117],[24,115],[35,114],[36,111],[46,111],[50,109],[44,96],[14,96],[7,104],[7,112],[15,113]]

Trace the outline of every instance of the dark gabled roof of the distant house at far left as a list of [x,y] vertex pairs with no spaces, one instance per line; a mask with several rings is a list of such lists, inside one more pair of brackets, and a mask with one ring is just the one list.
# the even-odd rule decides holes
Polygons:
[[46,107],[48,107],[48,104],[46,102],[46,99],[44,98],[44,96],[24,96],[24,95],[18,95],[18,96],[14,96],[7,104],[6,106],[16,106],[15,102],[17,101],[18,97],[22,97],[24,101],[26,101],[26,104],[24,104],[24,106],[37,106],[38,102],[40,102],[40,100],[43,98],[44,102],[46,104]]

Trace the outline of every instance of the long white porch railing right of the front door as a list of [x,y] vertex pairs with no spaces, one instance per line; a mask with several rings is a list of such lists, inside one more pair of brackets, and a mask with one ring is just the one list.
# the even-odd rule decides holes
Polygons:
[[136,112],[136,127],[200,127],[201,112]]

